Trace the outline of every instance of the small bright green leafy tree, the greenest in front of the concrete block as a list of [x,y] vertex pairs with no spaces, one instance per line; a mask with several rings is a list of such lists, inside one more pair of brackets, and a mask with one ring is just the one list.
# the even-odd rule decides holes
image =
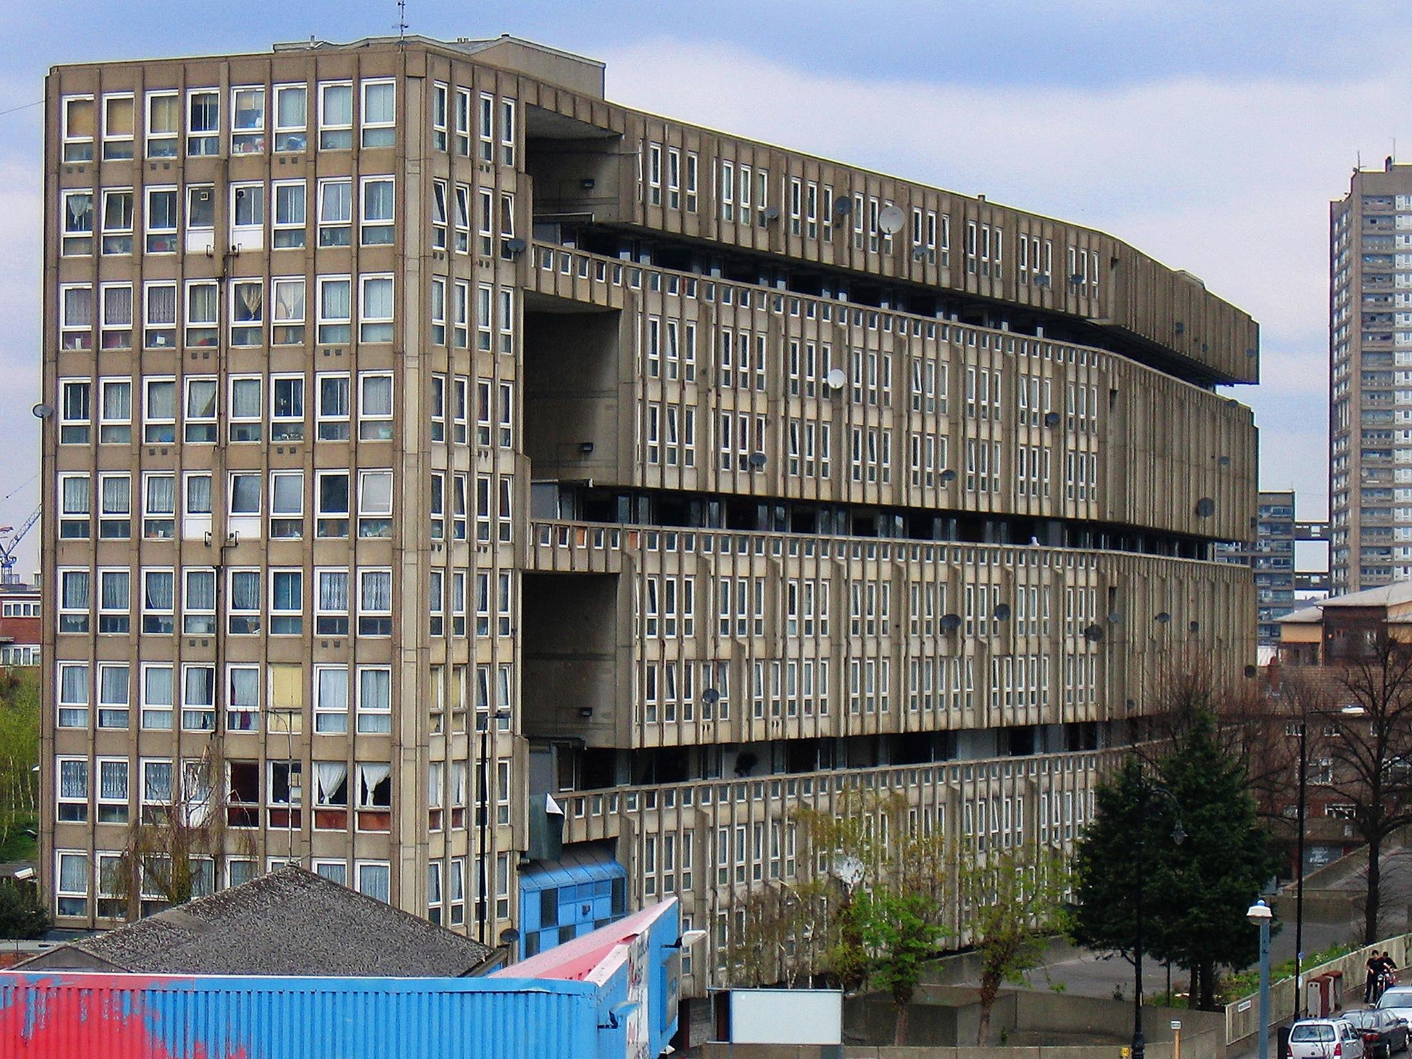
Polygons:
[[907,1043],[907,1011],[922,977],[922,966],[936,956],[945,928],[936,899],[921,890],[863,892],[850,908],[871,981],[892,998],[897,1024],[892,1043]]

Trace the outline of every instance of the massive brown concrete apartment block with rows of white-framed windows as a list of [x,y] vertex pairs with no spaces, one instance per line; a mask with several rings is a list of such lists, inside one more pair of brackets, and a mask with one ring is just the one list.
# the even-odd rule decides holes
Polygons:
[[796,806],[1065,846],[1163,665],[1254,661],[1257,326],[1111,236],[508,37],[47,109],[59,926],[185,799],[203,888],[294,860],[521,956],[676,894],[700,994]]

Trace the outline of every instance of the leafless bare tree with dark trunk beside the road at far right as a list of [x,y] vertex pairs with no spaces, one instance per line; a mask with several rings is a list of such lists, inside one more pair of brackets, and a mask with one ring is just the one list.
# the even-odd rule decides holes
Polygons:
[[1316,751],[1326,788],[1350,806],[1368,849],[1364,943],[1378,939],[1380,857],[1387,839],[1412,823],[1412,645],[1378,634],[1337,668],[1299,675],[1298,692],[1317,709]]

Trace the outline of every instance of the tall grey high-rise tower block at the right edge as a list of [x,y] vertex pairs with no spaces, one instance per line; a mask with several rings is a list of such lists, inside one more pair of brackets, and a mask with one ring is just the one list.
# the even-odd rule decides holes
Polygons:
[[1412,579],[1412,165],[1329,209],[1329,565],[1346,594]]

